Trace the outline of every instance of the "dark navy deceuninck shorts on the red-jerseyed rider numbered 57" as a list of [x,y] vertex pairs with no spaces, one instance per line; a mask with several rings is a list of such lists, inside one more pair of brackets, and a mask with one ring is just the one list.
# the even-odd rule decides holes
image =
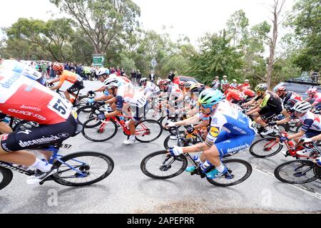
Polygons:
[[48,147],[56,142],[63,142],[73,136],[77,129],[77,121],[70,115],[63,123],[40,125],[39,127],[5,134],[1,139],[1,147],[6,152]]

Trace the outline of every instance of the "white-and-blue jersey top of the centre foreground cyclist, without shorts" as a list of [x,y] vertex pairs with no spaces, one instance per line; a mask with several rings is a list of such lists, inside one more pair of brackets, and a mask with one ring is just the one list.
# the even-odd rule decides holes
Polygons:
[[[202,119],[203,114],[200,114],[198,118]],[[255,133],[250,118],[227,100],[219,103],[217,110],[210,118],[210,132],[206,138],[208,145],[213,145],[222,130],[225,130],[228,135],[235,136],[253,135]]]

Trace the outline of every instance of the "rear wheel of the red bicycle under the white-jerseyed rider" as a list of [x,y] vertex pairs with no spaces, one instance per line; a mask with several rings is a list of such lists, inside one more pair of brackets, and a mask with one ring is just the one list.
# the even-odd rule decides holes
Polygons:
[[136,124],[136,140],[138,142],[153,142],[161,137],[163,128],[156,120],[143,120]]

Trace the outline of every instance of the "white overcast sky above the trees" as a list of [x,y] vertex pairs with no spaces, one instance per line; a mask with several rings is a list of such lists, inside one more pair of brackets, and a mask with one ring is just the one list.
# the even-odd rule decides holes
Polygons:
[[[258,24],[271,16],[269,6],[273,0],[133,0],[141,7],[143,28],[170,33],[173,39],[187,35],[197,44],[205,32],[218,32],[225,27],[233,12],[243,9],[250,25]],[[295,0],[286,0],[285,11]],[[50,19],[60,16],[49,0],[1,0],[0,27],[11,26],[19,17]],[[55,16],[55,17],[56,17]]]

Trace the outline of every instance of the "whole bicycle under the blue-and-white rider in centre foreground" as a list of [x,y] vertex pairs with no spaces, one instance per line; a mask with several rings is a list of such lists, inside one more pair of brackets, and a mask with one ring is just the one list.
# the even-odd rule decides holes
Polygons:
[[[178,128],[175,128],[175,132],[177,135],[178,145],[182,146],[183,142],[179,137],[180,134]],[[233,153],[233,155],[236,153],[237,152]],[[231,155],[225,157],[230,156]],[[153,179],[165,180],[182,174],[186,167],[188,167],[188,162],[195,167],[195,171],[190,173],[190,175],[199,175],[202,179],[206,177],[200,169],[200,165],[196,163],[188,153],[184,153],[180,156],[173,156],[170,155],[167,150],[156,151],[145,157],[141,162],[141,171],[144,175]],[[206,180],[208,180],[212,185],[220,187],[238,185],[247,180],[252,173],[252,166],[245,160],[230,159],[223,160],[222,162],[225,167],[227,167],[228,172],[217,179],[209,179],[206,177]],[[215,167],[211,167],[208,172],[213,169],[215,169]],[[154,173],[154,171],[156,173]]]

